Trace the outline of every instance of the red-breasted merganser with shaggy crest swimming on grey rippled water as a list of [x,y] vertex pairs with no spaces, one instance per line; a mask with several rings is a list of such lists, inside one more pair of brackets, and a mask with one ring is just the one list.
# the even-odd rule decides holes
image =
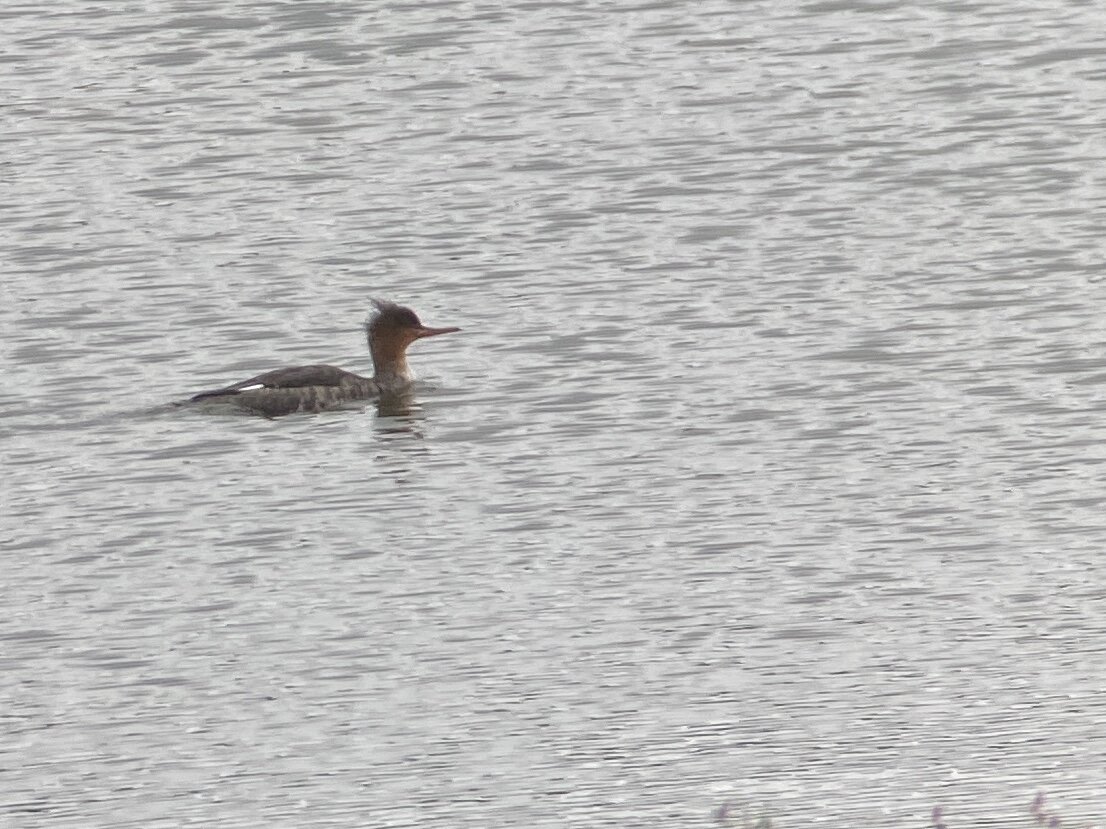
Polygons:
[[460,328],[429,328],[410,308],[373,300],[376,314],[365,324],[374,374],[362,377],[336,366],[295,366],[265,371],[249,380],[191,398],[227,402],[274,418],[296,411],[323,411],[353,400],[367,400],[403,391],[411,382],[407,346],[422,337],[451,334]]

